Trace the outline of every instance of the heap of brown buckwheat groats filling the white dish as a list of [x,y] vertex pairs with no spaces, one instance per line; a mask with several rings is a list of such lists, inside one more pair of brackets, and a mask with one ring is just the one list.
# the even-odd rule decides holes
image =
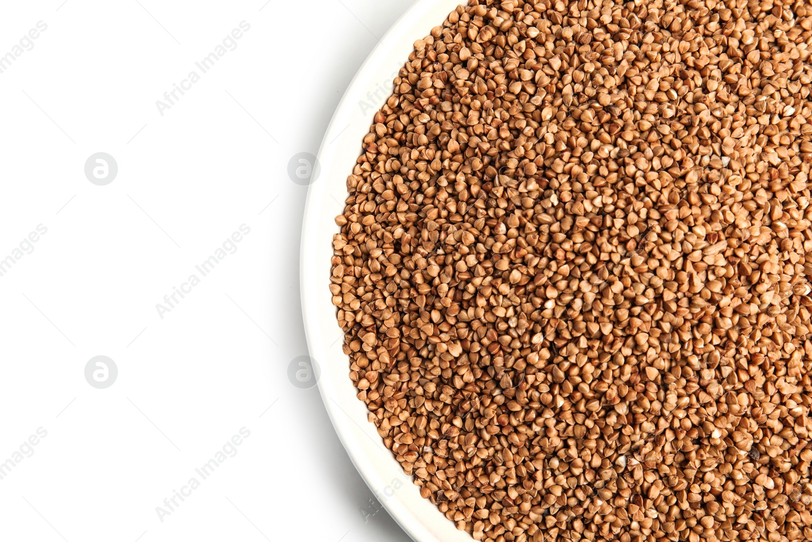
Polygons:
[[474,540],[812,540],[810,44],[772,0],[472,0],[415,42],[330,292]]

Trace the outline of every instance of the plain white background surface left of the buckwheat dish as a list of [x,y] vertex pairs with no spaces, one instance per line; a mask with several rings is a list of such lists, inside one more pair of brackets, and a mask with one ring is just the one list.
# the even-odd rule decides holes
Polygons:
[[[287,376],[307,353],[306,187],[288,162],[317,153],[411,3],[2,3],[0,56],[47,29],[0,73],[0,260],[47,232],[0,276],[0,463],[47,436],[0,479],[0,540],[408,540],[373,514],[317,389]],[[241,21],[235,50],[202,73]],[[119,168],[105,186],[84,174],[97,152]],[[195,266],[242,224],[203,277]],[[161,318],[192,274],[200,284]],[[85,380],[97,355],[118,367],[110,388]],[[235,456],[201,479],[242,427]],[[200,487],[161,521],[192,477]]]

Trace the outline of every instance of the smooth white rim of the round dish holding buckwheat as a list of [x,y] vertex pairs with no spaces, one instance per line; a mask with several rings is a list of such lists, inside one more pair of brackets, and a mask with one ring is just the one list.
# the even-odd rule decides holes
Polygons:
[[392,518],[417,542],[467,542],[436,506],[420,496],[411,477],[382,443],[367,409],[356,398],[343,353],[343,332],[331,302],[332,238],[335,216],[343,212],[347,176],[361,154],[361,140],[373,116],[391,94],[392,80],[408,60],[414,41],[443,24],[459,0],[418,0],[395,23],[361,69],[339,103],[319,150],[320,175],[310,185],[301,241],[301,297],[310,355],[319,369],[318,387],[335,431],[352,463]]

